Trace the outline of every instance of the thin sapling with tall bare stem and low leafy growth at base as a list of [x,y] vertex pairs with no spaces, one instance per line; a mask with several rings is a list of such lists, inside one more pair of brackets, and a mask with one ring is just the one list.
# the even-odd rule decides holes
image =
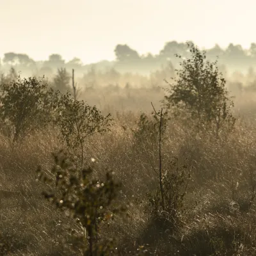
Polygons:
[[[151,102],[152,104],[152,102]],[[159,135],[159,188],[148,193],[148,207],[146,211],[150,211],[153,218],[167,218],[168,220],[175,220],[178,211],[183,207],[184,197],[188,189],[188,182],[190,179],[190,170],[184,164],[181,166],[177,158],[170,162],[168,168],[163,168],[162,163],[162,143],[163,132],[166,130],[168,116],[161,111],[156,111],[154,105],[154,117],[157,127],[158,121],[158,135]],[[156,129],[153,129],[157,134]]]

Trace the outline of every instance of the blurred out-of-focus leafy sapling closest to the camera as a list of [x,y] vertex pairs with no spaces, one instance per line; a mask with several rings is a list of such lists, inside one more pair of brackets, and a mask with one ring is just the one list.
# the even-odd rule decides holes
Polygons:
[[54,154],[54,161],[51,172],[43,172],[40,167],[37,170],[38,179],[52,190],[43,193],[45,198],[81,223],[88,244],[84,256],[110,255],[115,249],[113,239],[99,237],[100,223],[125,211],[125,207],[113,207],[120,184],[111,173],[106,173],[105,180],[92,179],[92,168],[77,170],[62,151]]

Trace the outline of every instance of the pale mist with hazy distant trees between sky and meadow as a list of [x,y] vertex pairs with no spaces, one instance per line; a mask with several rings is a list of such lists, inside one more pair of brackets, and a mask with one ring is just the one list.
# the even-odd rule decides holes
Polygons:
[[[205,51],[207,60],[218,60],[218,67],[227,79],[227,88],[232,95],[240,97],[242,92],[249,92],[248,96],[252,96],[256,77],[253,69],[256,64],[255,43],[252,43],[249,49],[232,43],[223,49],[216,44]],[[50,54],[48,60],[34,61],[25,53],[6,52],[1,59],[0,72],[2,81],[4,76],[8,76],[11,68],[14,68],[16,74],[21,77],[45,76],[51,86],[57,86],[59,90],[71,90],[74,69],[76,84],[83,99],[101,108],[112,105],[114,108],[132,108],[140,111],[150,107],[149,103],[153,98],[156,97],[159,102],[158,99],[163,96],[161,88],[166,87],[164,80],[170,81],[170,78],[175,76],[175,68],[179,68],[180,59],[175,54],[182,58],[190,56],[185,42],[176,41],[166,42],[163,49],[155,55],[140,55],[127,44],[117,44],[114,52],[116,59],[113,61],[102,60],[86,65],[79,58],[66,61],[57,53]],[[58,76],[58,70],[61,69],[65,69],[66,74],[63,76],[67,76],[66,81],[62,85],[54,84],[54,77]],[[130,100],[124,102],[122,97],[127,96],[128,88]],[[148,95],[151,89],[152,95]],[[145,95],[141,94],[142,92]],[[115,93],[120,97],[115,97]]]

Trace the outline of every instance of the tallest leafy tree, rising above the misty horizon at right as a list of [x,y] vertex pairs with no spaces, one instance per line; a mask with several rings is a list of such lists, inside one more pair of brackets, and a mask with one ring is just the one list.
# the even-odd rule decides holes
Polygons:
[[[175,70],[177,77],[167,90],[164,103],[167,108],[185,110],[200,127],[213,127],[218,136],[223,127],[232,128],[234,107],[225,88],[226,81],[217,67],[217,61],[206,61],[205,51],[187,43],[191,58],[182,60],[181,69]],[[178,54],[178,58],[182,58]]]

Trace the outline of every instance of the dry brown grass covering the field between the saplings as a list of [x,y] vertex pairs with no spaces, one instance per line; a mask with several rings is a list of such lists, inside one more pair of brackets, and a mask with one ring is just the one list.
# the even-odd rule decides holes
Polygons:
[[[99,101],[93,102],[97,95]],[[137,89],[83,97],[114,118],[111,131],[88,138],[84,155],[95,175],[115,172],[123,184],[118,202],[130,203],[128,220],[118,217],[102,227],[104,236],[117,239],[120,255],[132,255],[140,245],[148,255],[256,255],[256,206],[250,203],[256,189],[252,94],[235,100],[238,120],[228,138],[195,135],[179,120],[168,124],[163,169],[177,157],[191,170],[174,225],[152,220],[145,208],[147,192],[158,186],[158,148],[134,140],[140,111],[151,111],[150,101],[159,108],[163,92]],[[81,227],[42,197],[45,185],[35,180],[38,164],[51,168],[51,153],[61,147],[56,132],[38,131],[14,148],[4,136],[0,141],[0,255],[80,255],[73,233],[81,234]]]

